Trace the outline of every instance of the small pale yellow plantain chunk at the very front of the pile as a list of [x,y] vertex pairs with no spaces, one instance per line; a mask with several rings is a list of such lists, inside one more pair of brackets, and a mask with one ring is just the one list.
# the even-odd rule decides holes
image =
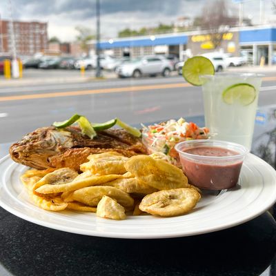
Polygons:
[[103,195],[97,206],[97,216],[108,219],[126,219],[125,209],[115,199]]

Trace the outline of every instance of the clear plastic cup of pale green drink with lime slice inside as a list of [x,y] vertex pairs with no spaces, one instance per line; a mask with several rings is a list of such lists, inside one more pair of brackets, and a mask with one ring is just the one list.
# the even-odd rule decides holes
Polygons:
[[262,75],[202,75],[205,124],[213,139],[252,144]]

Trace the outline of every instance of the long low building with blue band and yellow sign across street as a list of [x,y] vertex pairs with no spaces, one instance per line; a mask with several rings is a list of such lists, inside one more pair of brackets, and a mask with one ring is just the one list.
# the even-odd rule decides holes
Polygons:
[[[173,54],[179,59],[221,50],[235,56],[245,55],[253,65],[259,65],[262,59],[271,65],[276,59],[276,26],[230,28],[216,49],[204,31],[109,39],[101,41],[99,47],[101,52],[115,57]],[[91,49],[95,49],[95,41],[91,41]]]

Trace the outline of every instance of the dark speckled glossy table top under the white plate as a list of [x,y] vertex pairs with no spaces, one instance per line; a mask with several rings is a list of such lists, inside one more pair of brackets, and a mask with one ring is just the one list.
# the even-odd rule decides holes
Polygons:
[[[272,166],[275,110],[273,106],[259,110],[252,150]],[[200,124],[203,117],[189,119]],[[9,145],[0,145],[0,157]],[[272,276],[276,275],[275,214],[274,206],[239,226],[193,237],[110,239],[53,230],[0,208],[0,276]]]

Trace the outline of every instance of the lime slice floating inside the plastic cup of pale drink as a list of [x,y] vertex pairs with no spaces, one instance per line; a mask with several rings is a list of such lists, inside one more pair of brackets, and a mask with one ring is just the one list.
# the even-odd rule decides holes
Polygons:
[[249,83],[237,83],[222,92],[222,99],[228,104],[238,102],[242,106],[248,106],[255,98],[256,89]]

